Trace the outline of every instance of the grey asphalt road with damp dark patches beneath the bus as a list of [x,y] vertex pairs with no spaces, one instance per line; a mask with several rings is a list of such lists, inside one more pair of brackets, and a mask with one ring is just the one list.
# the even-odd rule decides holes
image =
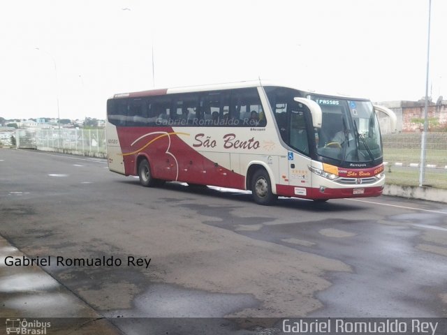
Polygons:
[[[121,332],[144,328],[126,326],[140,317],[447,316],[446,204],[382,196],[263,207],[240,191],[143,188],[101,159],[0,149],[0,215],[1,237],[49,259],[41,269],[98,315],[124,317]],[[0,311],[54,316],[8,299]],[[91,316],[82,311],[61,306],[57,316]]]

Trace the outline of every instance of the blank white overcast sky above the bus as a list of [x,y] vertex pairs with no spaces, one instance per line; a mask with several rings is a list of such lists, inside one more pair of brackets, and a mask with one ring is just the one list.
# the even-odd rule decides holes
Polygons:
[[[447,99],[447,1],[431,8],[437,101]],[[417,101],[428,10],[429,0],[3,1],[0,117],[105,119],[113,94],[258,78]]]

